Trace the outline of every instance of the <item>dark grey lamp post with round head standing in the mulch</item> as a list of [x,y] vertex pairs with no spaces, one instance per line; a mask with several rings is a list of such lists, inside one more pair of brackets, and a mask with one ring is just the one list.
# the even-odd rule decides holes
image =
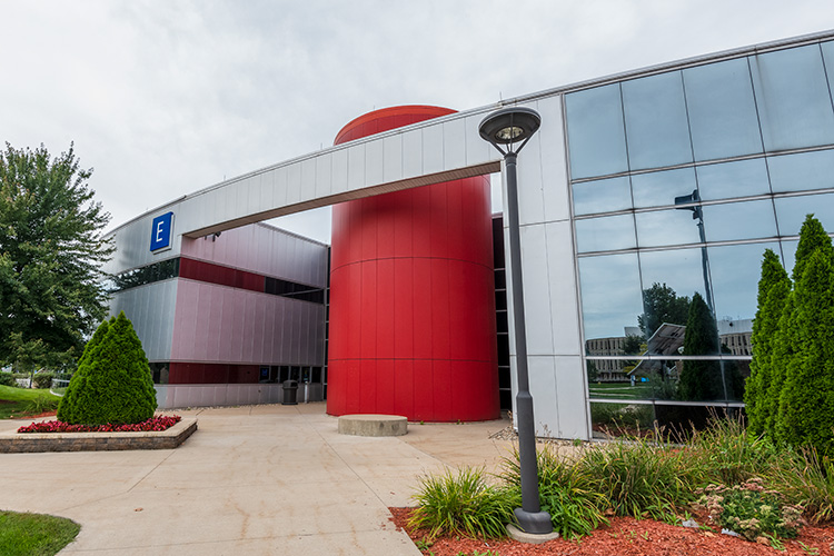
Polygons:
[[[515,327],[516,419],[518,424],[518,457],[522,478],[522,507],[515,516],[525,533],[546,535],[553,532],[550,515],[542,512],[538,502],[538,470],[536,464],[536,427],[533,418],[527,371],[527,332],[524,319],[524,289],[522,287],[522,241],[518,225],[518,185],[516,160],[518,152],[542,125],[539,115],[529,108],[510,107],[497,110],[480,122],[480,137],[489,141],[504,156],[507,178],[507,229],[509,231],[509,272],[513,278],[513,325]],[[514,145],[520,143],[515,148]],[[502,148],[506,147],[506,150]]]

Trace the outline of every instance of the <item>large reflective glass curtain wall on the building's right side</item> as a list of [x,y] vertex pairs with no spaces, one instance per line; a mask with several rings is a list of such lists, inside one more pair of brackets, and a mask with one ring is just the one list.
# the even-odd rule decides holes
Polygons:
[[834,42],[565,96],[595,429],[741,407],[765,249],[834,230]]

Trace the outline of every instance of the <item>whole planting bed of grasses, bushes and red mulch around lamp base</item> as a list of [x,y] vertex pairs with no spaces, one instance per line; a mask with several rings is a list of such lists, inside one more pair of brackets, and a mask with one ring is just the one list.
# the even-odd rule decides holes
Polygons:
[[415,508],[393,508],[424,554],[834,555],[834,461],[774,445],[738,418],[716,418],[677,444],[644,436],[537,450],[538,493],[562,538],[506,539],[522,505],[517,450],[503,469],[446,469],[420,479]]

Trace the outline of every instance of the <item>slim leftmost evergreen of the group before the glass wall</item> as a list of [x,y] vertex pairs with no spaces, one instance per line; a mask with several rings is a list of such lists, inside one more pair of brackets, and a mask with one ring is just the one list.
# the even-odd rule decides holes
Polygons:
[[761,435],[765,431],[770,406],[766,396],[771,385],[774,339],[780,317],[791,292],[791,279],[782,267],[778,256],[765,249],[762,260],[762,278],[758,280],[758,307],[753,319],[753,360],[751,376],[744,395],[749,429]]

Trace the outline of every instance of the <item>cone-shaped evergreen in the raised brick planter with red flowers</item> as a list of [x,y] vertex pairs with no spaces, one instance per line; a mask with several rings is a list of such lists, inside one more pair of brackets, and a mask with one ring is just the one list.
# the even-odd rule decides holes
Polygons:
[[90,339],[61,399],[58,418],[82,425],[141,423],[153,417],[156,409],[148,359],[122,311],[102,322]]

